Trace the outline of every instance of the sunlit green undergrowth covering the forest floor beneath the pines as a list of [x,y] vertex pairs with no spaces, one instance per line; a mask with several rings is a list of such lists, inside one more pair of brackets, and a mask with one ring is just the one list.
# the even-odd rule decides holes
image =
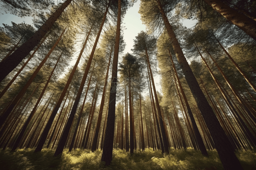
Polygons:
[[[64,150],[62,156],[53,157],[54,150],[43,149],[34,154],[35,149],[21,149],[15,152],[0,151],[0,169],[4,170],[77,170],[77,169],[142,169],[142,170],[215,170],[223,169],[216,150],[208,151],[209,158],[203,157],[200,151],[192,148],[184,150],[170,150],[170,154],[161,154],[161,151],[146,149],[129,152],[113,150],[113,161],[105,167],[101,162],[102,151],[76,149],[72,152]],[[238,151],[236,155],[244,170],[256,170],[256,152]]]

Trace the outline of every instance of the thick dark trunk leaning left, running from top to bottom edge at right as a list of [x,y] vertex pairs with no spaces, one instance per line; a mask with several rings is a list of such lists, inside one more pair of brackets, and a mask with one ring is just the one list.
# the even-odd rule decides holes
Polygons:
[[230,146],[230,142],[222,129],[220,123],[218,122],[217,117],[215,116],[212,108],[207,102],[202,90],[200,89],[198,82],[196,81],[195,76],[182,52],[182,49],[179,45],[179,42],[172,30],[172,26],[170,25],[168,18],[161,6],[160,0],[156,0],[159,6],[159,10],[162,14],[163,21],[166,26],[167,33],[170,37],[170,41],[172,47],[174,48],[174,52],[178,59],[178,62],[182,68],[182,71],[185,75],[185,78],[188,82],[189,88],[196,100],[199,110],[204,117],[205,123],[211,133],[214,144],[218,151],[218,155],[221,159],[222,165],[224,169],[243,169],[241,163],[238,161],[235,153],[233,152],[233,148]]

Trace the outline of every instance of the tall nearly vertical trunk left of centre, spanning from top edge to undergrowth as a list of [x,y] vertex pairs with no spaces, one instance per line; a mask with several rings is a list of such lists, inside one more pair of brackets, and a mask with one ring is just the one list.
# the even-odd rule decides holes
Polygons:
[[105,165],[110,165],[113,154],[113,140],[114,140],[114,128],[115,128],[115,100],[116,100],[116,84],[117,84],[117,66],[118,66],[118,52],[119,52],[119,40],[120,40],[120,25],[121,25],[121,0],[118,0],[118,15],[115,34],[115,47],[113,56],[112,78],[110,87],[110,102],[107,115],[107,127],[106,135],[104,139],[103,152],[101,161],[105,161]]

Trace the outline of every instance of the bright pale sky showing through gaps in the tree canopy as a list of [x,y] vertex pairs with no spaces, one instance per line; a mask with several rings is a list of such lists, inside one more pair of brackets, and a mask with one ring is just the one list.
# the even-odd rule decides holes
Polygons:
[[[126,43],[126,47],[124,50],[124,54],[132,53],[131,49],[133,48],[133,39],[135,39],[135,36],[138,35],[142,30],[146,31],[146,26],[142,24],[141,21],[141,16],[138,13],[140,8],[140,0],[138,0],[133,7],[129,8],[126,12],[126,15],[124,16],[124,20],[122,23],[122,26],[125,26],[124,32],[124,41]],[[12,25],[11,21],[15,23],[26,23],[33,25],[32,17],[23,17],[20,18],[16,15],[11,15],[11,14],[2,14],[3,12],[1,11],[0,13],[0,26],[3,27],[2,23]],[[191,28],[193,24],[195,23],[195,20],[183,20],[183,26],[186,26],[187,28]],[[121,56],[119,56],[119,59]],[[75,62],[75,61],[74,61]],[[74,65],[73,62],[71,62],[71,65]],[[156,85],[156,90],[161,92],[160,90],[160,76],[156,75],[154,76],[154,82]],[[145,93],[146,95],[146,93]]]

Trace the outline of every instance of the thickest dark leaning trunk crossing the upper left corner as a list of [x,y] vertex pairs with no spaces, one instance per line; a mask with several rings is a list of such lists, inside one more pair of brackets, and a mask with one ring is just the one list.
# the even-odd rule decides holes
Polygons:
[[72,0],[66,0],[46,22],[24,44],[18,47],[6,60],[0,63],[0,82],[38,45],[43,36],[51,29],[54,22],[59,18],[64,9]]

